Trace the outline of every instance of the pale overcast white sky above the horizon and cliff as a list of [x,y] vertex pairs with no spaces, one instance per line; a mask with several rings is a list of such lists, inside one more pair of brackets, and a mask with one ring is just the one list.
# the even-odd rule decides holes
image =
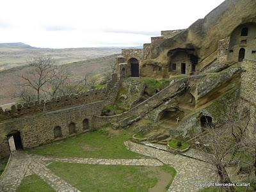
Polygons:
[[137,46],[188,28],[224,0],[1,0],[0,43],[35,47]]

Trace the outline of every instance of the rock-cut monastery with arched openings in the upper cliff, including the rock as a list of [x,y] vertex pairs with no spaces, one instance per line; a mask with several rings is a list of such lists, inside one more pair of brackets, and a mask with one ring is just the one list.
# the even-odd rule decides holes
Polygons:
[[118,76],[168,78],[256,60],[255,7],[253,0],[227,0],[188,29],[161,31],[143,49],[123,49]]

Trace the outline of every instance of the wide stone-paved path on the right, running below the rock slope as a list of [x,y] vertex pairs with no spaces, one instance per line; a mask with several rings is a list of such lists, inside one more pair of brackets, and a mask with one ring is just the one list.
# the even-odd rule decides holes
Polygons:
[[132,143],[126,141],[125,146],[133,152],[138,152],[145,156],[156,157],[164,164],[170,164],[177,171],[172,185],[168,192],[193,192],[198,191],[195,183],[207,183],[217,180],[216,174],[212,173],[211,164],[196,159],[191,159],[179,154],[171,154],[157,148]]

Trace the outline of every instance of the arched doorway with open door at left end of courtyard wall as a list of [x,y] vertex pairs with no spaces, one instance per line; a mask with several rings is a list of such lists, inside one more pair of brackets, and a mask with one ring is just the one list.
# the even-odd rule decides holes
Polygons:
[[8,135],[8,144],[11,151],[22,149],[22,142],[19,131],[11,131]]

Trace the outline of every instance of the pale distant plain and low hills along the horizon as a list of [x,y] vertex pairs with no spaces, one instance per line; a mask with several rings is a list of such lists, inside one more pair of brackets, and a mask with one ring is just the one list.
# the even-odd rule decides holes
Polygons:
[[116,47],[49,49],[31,47],[22,43],[0,44],[0,71],[26,65],[30,58],[42,55],[51,56],[61,65],[111,54],[120,54],[120,52],[121,49]]

